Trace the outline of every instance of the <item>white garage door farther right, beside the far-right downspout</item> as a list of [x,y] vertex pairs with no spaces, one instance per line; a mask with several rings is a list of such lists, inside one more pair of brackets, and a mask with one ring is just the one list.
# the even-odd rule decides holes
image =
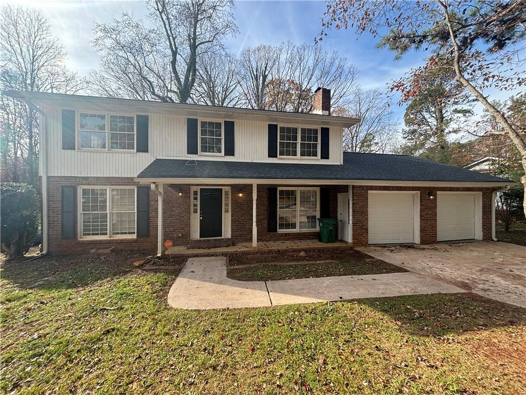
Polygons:
[[475,238],[475,195],[472,193],[437,194],[437,240]]

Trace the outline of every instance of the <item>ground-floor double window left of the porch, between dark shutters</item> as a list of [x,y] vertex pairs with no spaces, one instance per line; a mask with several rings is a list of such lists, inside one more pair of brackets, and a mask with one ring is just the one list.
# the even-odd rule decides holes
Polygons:
[[80,187],[81,238],[135,237],[135,187]]

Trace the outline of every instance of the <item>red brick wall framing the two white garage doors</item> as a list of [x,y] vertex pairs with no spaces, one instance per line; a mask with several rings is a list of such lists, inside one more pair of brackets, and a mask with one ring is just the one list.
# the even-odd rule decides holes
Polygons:
[[[429,191],[435,199],[430,199]],[[420,191],[420,244],[437,242],[437,191],[482,192],[482,240],[491,239],[491,188],[454,188],[454,187],[397,187],[397,186],[361,186],[352,187],[352,244],[367,245],[369,241],[368,193],[369,191]]]

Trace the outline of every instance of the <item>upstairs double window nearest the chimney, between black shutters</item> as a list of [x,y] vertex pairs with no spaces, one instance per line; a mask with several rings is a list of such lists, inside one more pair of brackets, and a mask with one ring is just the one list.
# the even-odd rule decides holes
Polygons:
[[317,127],[279,126],[279,156],[318,158]]

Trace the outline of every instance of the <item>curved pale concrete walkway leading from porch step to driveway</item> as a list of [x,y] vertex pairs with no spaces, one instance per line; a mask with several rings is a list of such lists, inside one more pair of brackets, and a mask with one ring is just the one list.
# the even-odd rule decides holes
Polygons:
[[237,281],[227,278],[224,256],[205,256],[188,259],[171,286],[168,304],[187,310],[235,309],[456,292],[464,291],[411,272]]

